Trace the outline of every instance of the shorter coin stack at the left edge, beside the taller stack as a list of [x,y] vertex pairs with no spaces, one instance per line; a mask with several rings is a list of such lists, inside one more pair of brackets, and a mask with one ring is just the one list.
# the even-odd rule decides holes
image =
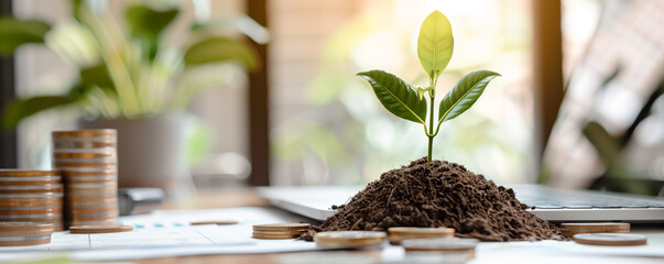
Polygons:
[[63,230],[63,185],[53,170],[0,169],[0,221],[52,223]]

